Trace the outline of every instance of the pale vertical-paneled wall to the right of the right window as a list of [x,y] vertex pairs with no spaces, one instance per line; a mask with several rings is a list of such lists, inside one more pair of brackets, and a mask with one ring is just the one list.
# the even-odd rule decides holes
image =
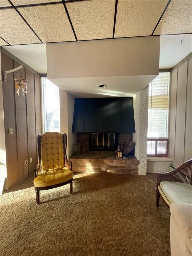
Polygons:
[[192,158],[191,58],[171,73],[169,157],[174,166]]

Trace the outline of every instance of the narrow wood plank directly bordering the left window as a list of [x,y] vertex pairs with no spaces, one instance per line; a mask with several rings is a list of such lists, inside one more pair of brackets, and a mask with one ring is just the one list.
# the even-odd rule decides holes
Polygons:
[[[37,135],[42,134],[42,125],[41,125],[41,84],[40,79],[37,75],[35,77],[35,120],[36,120],[36,144],[37,144]],[[37,145],[36,145],[37,146]],[[38,150],[37,150],[38,152]],[[37,163],[36,163],[37,164]]]

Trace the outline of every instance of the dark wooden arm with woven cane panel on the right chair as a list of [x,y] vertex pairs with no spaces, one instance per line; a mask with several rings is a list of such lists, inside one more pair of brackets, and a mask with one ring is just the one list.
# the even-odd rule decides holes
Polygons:
[[[191,164],[192,159],[184,162],[174,170],[166,173],[157,174],[157,186],[160,185],[161,181],[176,181],[182,183],[191,184]],[[186,174],[185,174],[186,172]],[[178,175],[177,175],[178,173]],[[179,177],[180,176],[180,177]]]

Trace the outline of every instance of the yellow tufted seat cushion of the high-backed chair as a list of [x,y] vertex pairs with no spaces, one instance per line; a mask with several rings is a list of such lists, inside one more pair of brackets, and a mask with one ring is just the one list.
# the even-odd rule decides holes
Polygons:
[[73,178],[73,171],[66,167],[52,170],[44,170],[38,173],[34,179],[35,187],[47,187],[63,183]]

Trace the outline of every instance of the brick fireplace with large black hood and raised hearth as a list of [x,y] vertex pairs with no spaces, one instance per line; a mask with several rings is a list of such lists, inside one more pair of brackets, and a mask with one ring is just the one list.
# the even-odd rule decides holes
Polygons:
[[[76,98],[72,132],[77,133],[80,154],[72,155],[75,172],[138,174],[138,159],[130,150],[135,132],[133,98]],[[129,159],[117,156],[130,152]],[[132,146],[130,146],[132,145]]]

